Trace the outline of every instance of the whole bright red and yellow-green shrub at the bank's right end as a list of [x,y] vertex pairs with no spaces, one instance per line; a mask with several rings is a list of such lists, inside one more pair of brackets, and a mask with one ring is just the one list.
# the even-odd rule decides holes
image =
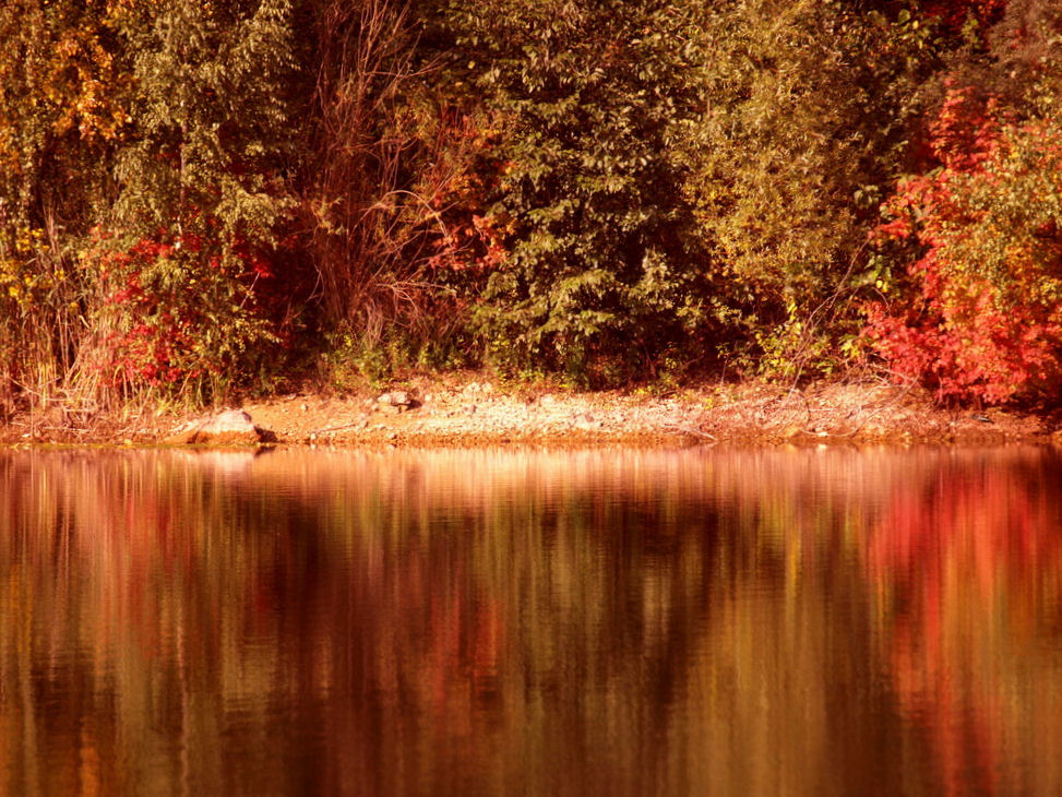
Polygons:
[[952,86],[931,127],[941,164],[904,180],[883,240],[914,243],[911,293],[868,307],[890,368],[942,401],[1004,403],[1062,378],[1062,128],[1014,121]]

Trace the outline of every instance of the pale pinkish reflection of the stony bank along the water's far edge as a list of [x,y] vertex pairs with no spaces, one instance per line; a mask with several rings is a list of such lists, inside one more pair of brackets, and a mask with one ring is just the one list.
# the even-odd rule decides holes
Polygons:
[[[991,450],[990,450],[991,451]],[[986,456],[990,460],[986,460]],[[678,499],[760,502],[775,491],[791,501],[809,496],[831,502],[880,503],[892,485],[908,483],[942,467],[1033,465],[1055,457],[1048,449],[396,449],[384,451],[307,451],[279,449],[256,461],[254,478],[294,480],[312,495],[342,484],[359,495],[366,489],[404,489],[408,474],[423,479],[428,500],[476,500],[494,490],[537,495],[589,490],[667,493]],[[1048,457],[1046,460],[1046,457]],[[965,463],[965,465],[964,465]],[[350,467],[368,476],[344,480]],[[771,500],[777,500],[772,497]]]

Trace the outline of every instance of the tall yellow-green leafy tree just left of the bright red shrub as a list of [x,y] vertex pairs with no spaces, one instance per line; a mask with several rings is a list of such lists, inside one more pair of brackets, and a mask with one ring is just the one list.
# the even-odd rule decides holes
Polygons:
[[713,4],[705,37],[684,183],[699,234],[748,297],[761,368],[828,370],[932,60],[926,32],[906,11],[752,0]]

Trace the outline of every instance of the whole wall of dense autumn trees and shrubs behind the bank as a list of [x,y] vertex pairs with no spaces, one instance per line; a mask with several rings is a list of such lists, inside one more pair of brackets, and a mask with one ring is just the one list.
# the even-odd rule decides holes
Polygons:
[[1055,0],[5,0],[0,418],[293,374],[1062,383]]

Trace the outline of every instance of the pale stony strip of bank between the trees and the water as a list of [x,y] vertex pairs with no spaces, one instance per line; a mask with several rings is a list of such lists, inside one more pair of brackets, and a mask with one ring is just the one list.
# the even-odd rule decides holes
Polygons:
[[[407,398],[408,404],[393,404],[392,395]],[[474,374],[416,378],[390,389],[365,388],[343,395],[289,393],[227,408],[248,413],[262,432],[261,440],[249,442],[274,445],[1062,443],[1062,431],[1052,417],[999,408],[952,411],[933,404],[924,391],[869,382],[814,383],[803,389],[743,382],[667,394],[586,393],[499,385]],[[214,415],[141,408],[85,418],[56,407],[0,426],[0,444],[186,445],[190,441],[182,439],[182,430]]]

